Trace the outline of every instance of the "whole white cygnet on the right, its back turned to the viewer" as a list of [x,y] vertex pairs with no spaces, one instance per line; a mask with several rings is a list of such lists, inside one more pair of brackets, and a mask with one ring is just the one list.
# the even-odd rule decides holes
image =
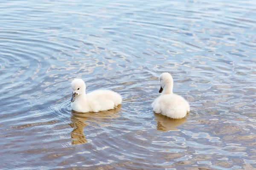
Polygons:
[[177,94],[172,93],[173,79],[169,73],[162,73],[159,77],[161,95],[152,103],[153,111],[172,119],[181,119],[189,113],[189,103]]

